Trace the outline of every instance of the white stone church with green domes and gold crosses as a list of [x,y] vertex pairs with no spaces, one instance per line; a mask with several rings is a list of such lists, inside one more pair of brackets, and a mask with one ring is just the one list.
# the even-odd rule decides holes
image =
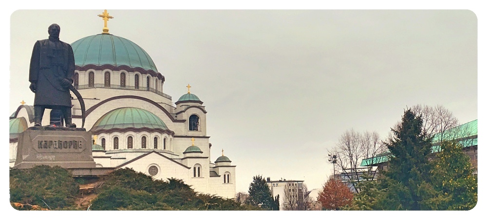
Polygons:
[[[198,192],[235,197],[235,165],[223,150],[211,161],[207,112],[189,85],[174,106],[172,97],[163,93],[165,77],[150,55],[131,40],[109,34],[106,27],[71,46],[74,86],[84,99],[84,128],[92,132],[97,167],[130,167],[154,179],[182,179]],[[73,122],[80,128],[81,107],[72,97]],[[59,117],[46,109],[42,125],[60,123]],[[31,126],[34,107],[20,105],[10,116],[11,167],[18,135]]]

